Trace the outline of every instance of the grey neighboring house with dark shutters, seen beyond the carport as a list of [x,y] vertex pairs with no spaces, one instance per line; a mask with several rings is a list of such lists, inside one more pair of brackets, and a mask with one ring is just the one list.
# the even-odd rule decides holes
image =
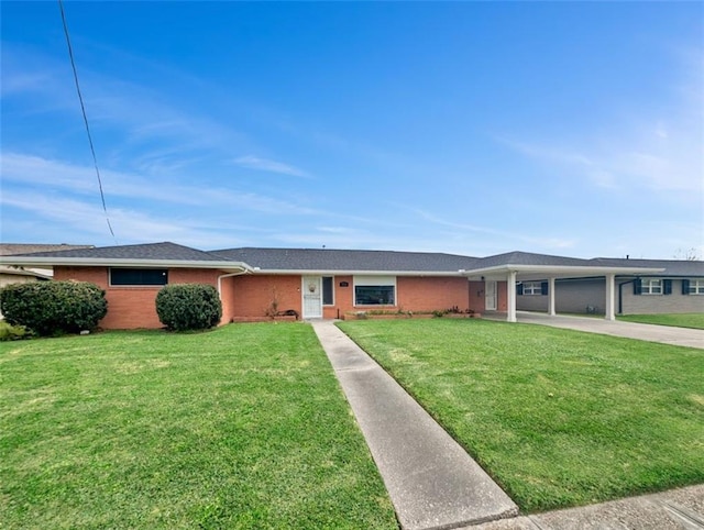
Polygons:
[[[618,314],[704,312],[704,262],[682,260],[593,260],[609,266],[658,268],[656,274],[616,275]],[[563,278],[556,283],[556,310],[604,314],[603,277]],[[547,281],[517,286],[517,308],[546,311]]]

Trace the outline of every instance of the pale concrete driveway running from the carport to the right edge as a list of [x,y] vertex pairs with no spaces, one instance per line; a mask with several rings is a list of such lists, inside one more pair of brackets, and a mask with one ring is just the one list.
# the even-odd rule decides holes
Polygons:
[[678,346],[704,349],[704,330],[673,328],[670,325],[640,324],[619,320],[604,320],[593,317],[550,317],[546,313],[517,311],[518,322],[529,324],[552,325],[569,330],[587,331],[604,335],[626,336],[641,341],[662,342]]

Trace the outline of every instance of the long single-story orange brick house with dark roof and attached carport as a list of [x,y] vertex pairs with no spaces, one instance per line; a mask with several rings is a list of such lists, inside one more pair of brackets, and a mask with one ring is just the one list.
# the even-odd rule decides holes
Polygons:
[[[535,284],[544,281],[543,309],[554,313],[556,281],[601,278],[602,298],[595,303],[613,319],[617,277],[653,277],[663,272],[659,266],[617,262],[522,252],[484,258],[327,249],[205,252],[168,242],[0,256],[0,264],[51,266],[56,279],[99,285],[107,292],[108,314],[100,322],[107,329],[161,327],[156,294],[166,284],[182,283],[215,286],[222,300],[222,323],[261,320],[286,310],[311,319],[338,318],[350,311],[450,308],[505,312],[508,321],[515,321],[517,299],[528,296],[528,285],[532,294]],[[514,287],[517,285],[524,286],[522,295]],[[693,285],[698,289],[698,283]]]

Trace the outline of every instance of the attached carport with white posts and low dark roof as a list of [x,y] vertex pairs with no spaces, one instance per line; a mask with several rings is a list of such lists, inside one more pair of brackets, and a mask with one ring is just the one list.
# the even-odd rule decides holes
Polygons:
[[477,260],[476,268],[462,269],[460,274],[474,281],[506,281],[506,320],[516,322],[516,285],[521,281],[548,283],[548,314],[554,316],[554,287],[559,278],[603,277],[606,281],[604,300],[605,319],[616,319],[616,276],[642,275],[662,272],[662,268],[605,266],[596,260],[549,256],[527,252],[512,252]]

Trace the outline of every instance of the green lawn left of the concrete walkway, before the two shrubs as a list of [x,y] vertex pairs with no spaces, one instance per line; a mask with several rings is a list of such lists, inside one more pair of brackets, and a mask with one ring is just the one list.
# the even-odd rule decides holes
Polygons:
[[384,528],[311,328],[0,344],[1,528]]

